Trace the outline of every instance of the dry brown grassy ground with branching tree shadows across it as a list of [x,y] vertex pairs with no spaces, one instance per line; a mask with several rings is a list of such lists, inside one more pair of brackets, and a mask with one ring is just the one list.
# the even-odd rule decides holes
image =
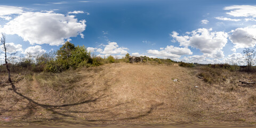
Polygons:
[[255,126],[255,108],[225,100],[195,74],[127,63],[36,74],[14,83],[21,95],[1,85],[0,125]]

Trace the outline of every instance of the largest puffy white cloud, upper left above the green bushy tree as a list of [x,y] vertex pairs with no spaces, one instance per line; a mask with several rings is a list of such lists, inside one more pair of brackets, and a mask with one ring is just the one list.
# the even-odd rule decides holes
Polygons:
[[61,45],[70,37],[83,37],[85,27],[85,20],[78,21],[74,15],[25,12],[6,23],[2,31],[17,34],[30,44]]

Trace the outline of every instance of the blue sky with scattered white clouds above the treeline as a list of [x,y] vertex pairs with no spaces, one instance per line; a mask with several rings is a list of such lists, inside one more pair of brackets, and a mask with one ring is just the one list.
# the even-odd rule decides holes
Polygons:
[[[94,55],[126,53],[198,63],[241,63],[256,36],[255,1],[3,1],[9,52],[43,54],[70,41]],[[251,38],[250,38],[251,37]],[[0,54],[1,55],[1,54]],[[3,54],[0,59],[3,60]]]

